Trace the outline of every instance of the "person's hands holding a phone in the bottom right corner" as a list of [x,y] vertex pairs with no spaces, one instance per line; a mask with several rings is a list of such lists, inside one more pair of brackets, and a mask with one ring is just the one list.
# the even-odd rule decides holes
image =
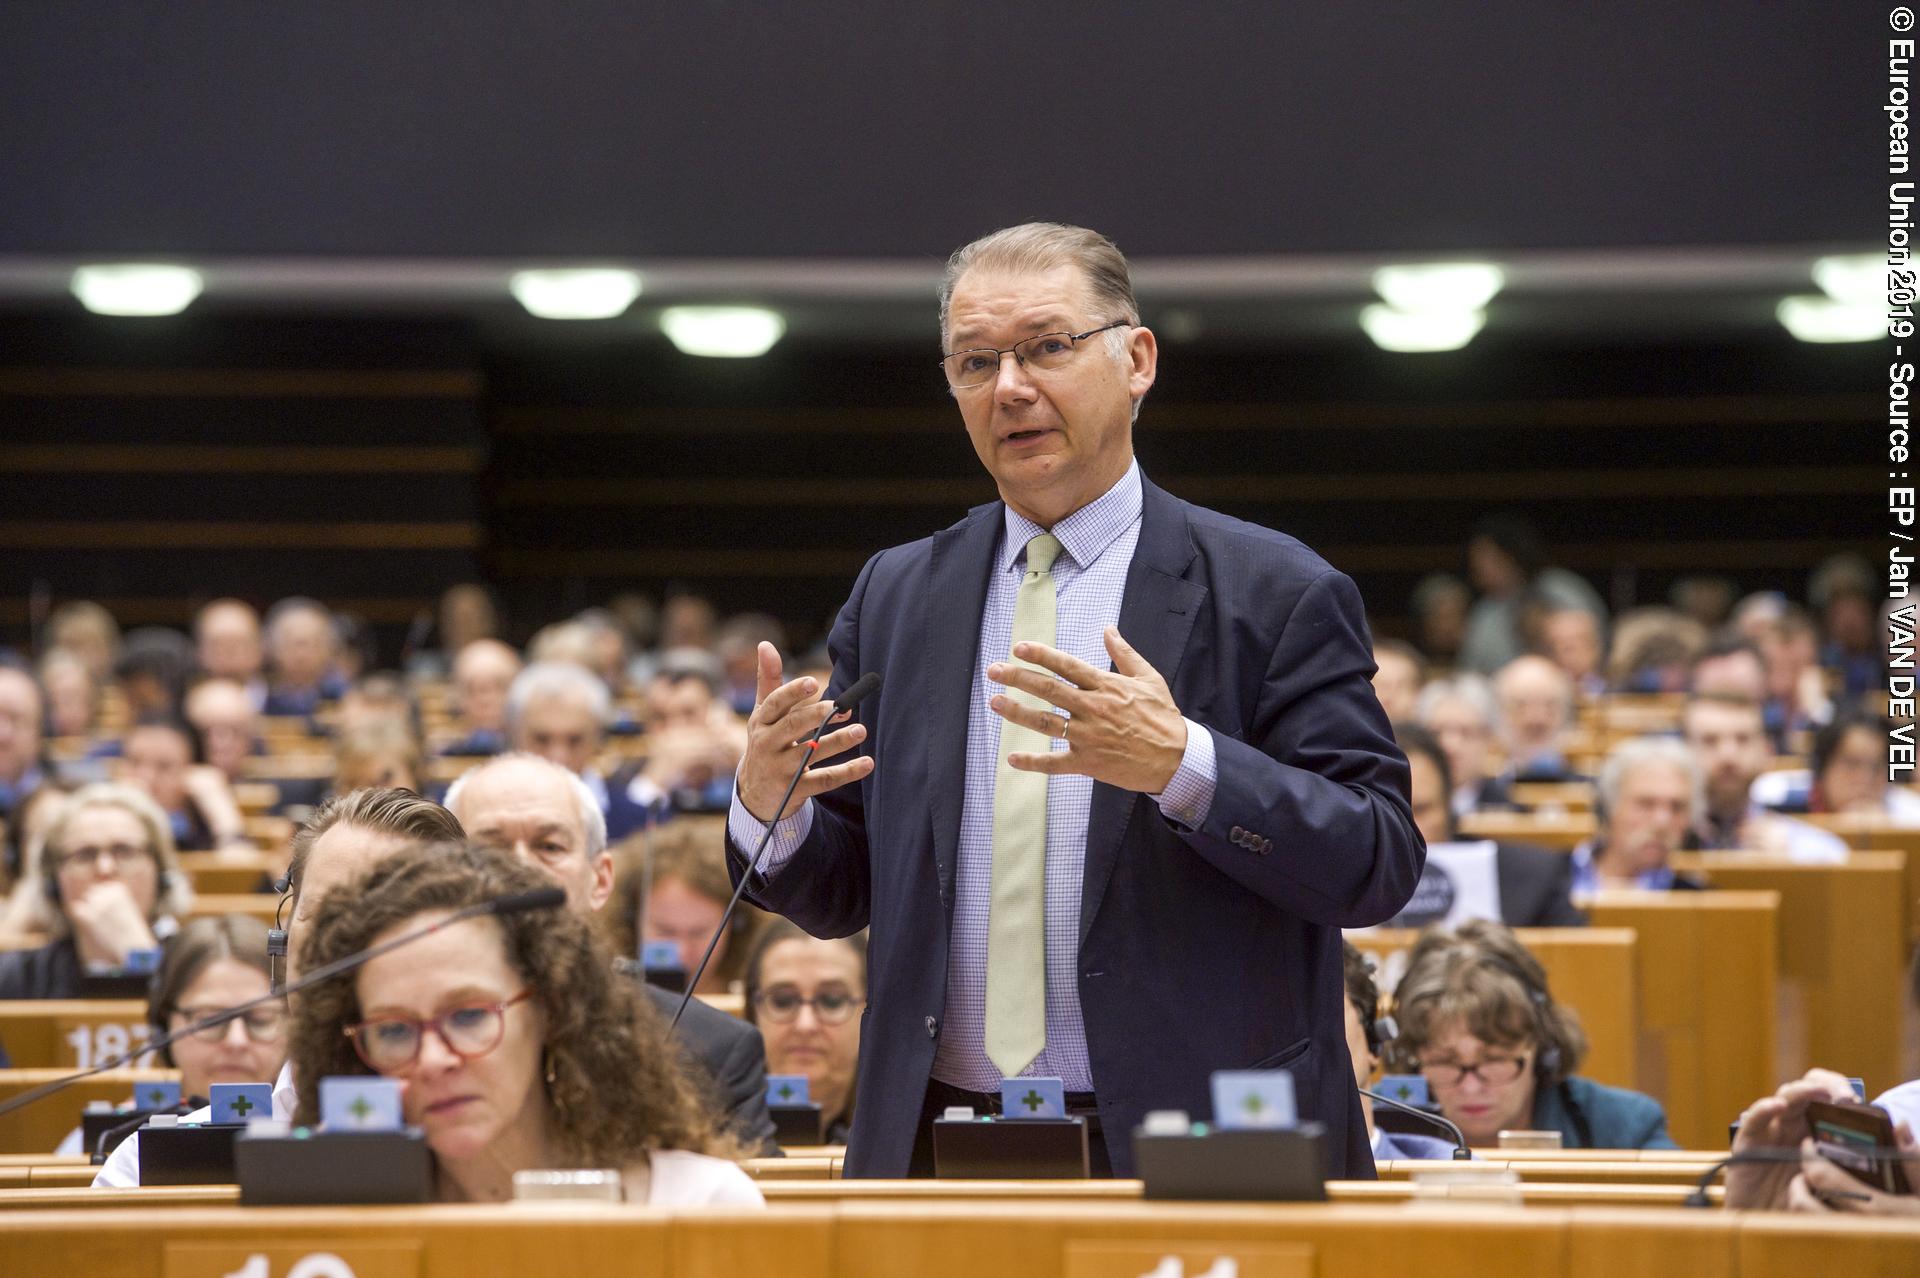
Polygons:
[[[1807,1105],[1853,1100],[1853,1084],[1841,1075],[1811,1069],[1803,1078],[1747,1105],[1740,1115],[1732,1153],[1736,1159],[1747,1155],[1749,1161],[1726,1169],[1728,1209],[1920,1219],[1920,1195],[1884,1194],[1814,1148]],[[1903,1082],[1874,1103],[1893,1119],[1893,1140],[1903,1153],[1907,1182],[1920,1190],[1920,1140],[1914,1140],[1920,1080]]]

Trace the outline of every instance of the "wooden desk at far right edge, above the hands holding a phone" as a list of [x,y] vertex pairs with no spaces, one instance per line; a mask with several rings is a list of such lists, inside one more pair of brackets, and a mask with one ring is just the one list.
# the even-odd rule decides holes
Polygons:
[[1674,869],[1715,888],[1780,894],[1776,1027],[1784,1078],[1824,1065],[1864,1078],[1866,1094],[1878,1096],[1914,1077],[1901,1059],[1905,852],[1855,852],[1845,865],[1795,865],[1753,852],[1682,852]]

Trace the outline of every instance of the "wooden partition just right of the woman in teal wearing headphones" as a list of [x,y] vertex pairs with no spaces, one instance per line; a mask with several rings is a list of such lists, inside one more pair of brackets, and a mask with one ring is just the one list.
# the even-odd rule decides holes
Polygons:
[[1588,913],[1638,935],[1640,1090],[1678,1144],[1726,1148],[1726,1124],[1780,1084],[1780,894],[1611,890]]

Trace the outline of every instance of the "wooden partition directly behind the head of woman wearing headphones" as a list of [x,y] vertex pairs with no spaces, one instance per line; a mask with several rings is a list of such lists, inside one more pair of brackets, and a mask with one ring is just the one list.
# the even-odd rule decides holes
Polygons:
[[[1382,992],[1405,969],[1415,931],[1350,933],[1363,954],[1379,959]],[[1620,1088],[1640,1086],[1640,1009],[1634,933],[1619,927],[1523,927],[1521,944],[1548,969],[1553,998],[1580,1013],[1594,1042],[1580,1073]]]

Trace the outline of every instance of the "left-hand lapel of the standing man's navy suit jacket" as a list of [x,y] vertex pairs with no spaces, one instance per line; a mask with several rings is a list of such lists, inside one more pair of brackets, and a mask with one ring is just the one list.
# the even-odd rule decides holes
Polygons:
[[941,906],[950,913],[960,860],[960,806],[966,793],[968,708],[979,658],[979,618],[987,610],[993,551],[1000,543],[1000,503],[933,535],[927,562],[927,816]]

